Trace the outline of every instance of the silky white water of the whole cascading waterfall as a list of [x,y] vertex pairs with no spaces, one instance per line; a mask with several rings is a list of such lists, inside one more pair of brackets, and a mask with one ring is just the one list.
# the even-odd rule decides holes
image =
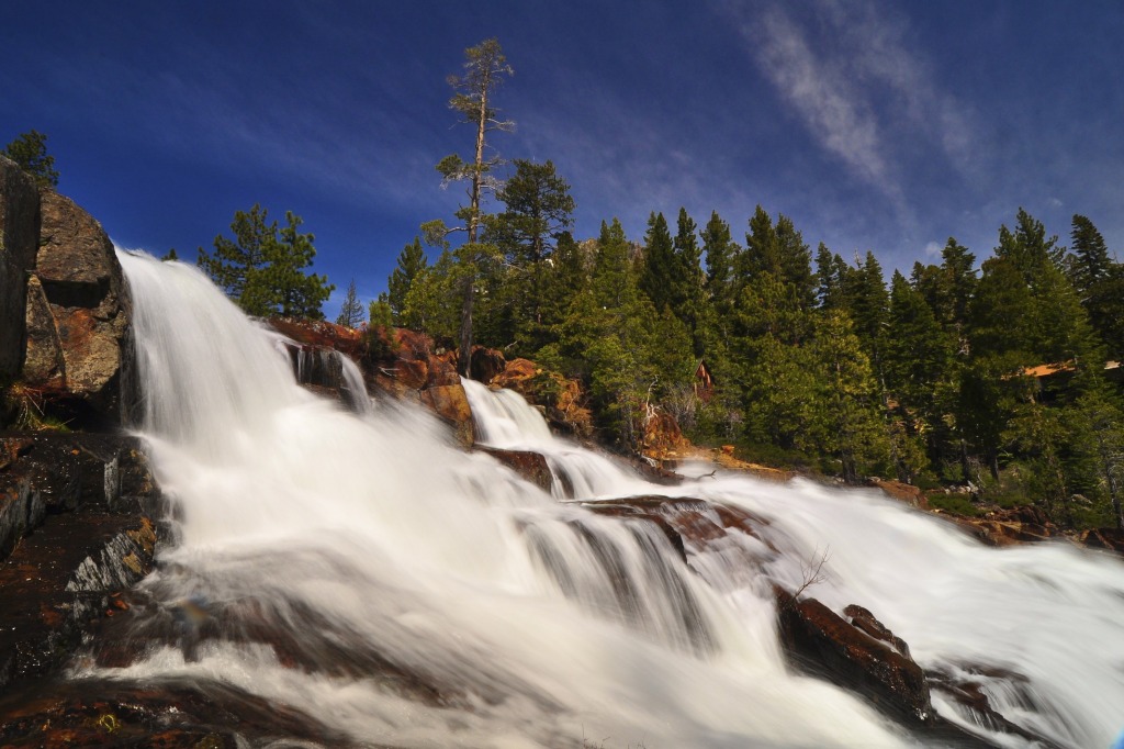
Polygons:
[[[145,585],[205,616],[272,612],[319,667],[287,667],[232,637],[190,657],[156,649],[101,676],[215,679],[356,742],[396,747],[908,745],[856,698],[783,666],[754,566],[796,587],[800,560],[828,549],[813,595],[836,611],[870,608],[925,667],[1023,675],[1022,695],[991,685],[1015,722],[1073,747],[1108,746],[1124,725],[1115,559],[1063,544],[989,550],[868,493],[720,477],[678,491],[768,517],[783,553],[732,535],[692,554],[691,571],[662,534],[556,503],[457,450],[418,410],[359,417],[306,392],[270,336],[194,269],[121,262],[144,432],[181,513],[178,544]],[[523,427],[495,437],[493,421],[482,425],[489,440],[578,452],[537,427],[536,437]],[[575,494],[669,491],[616,473],[593,471]],[[627,601],[606,559],[628,579]],[[346,662],[320,652],[325,640]],[[445,700],[396,692],[364,669],[375,659],[422,675]]]

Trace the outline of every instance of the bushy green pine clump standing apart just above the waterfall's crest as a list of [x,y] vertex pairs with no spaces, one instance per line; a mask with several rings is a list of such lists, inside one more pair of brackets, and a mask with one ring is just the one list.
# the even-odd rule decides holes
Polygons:
[[306,272],[316,249],[315,237],[298,231],[301,223],[287,211],[279,228],[257,204],[248,213],[235,211],[234,238],[216,236],[214,255],[199,247],[199,267],[246,314],[323,319],[320,306],[335,287]]

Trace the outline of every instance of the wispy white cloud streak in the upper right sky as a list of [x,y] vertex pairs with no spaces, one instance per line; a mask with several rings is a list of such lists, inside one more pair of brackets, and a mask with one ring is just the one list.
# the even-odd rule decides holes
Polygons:
[[936,84],[892,9],[816,0],[725,10],[816,142],[899,210],[908,213],[912,159],[933,154],[955,171],[971,169],[970,115]]

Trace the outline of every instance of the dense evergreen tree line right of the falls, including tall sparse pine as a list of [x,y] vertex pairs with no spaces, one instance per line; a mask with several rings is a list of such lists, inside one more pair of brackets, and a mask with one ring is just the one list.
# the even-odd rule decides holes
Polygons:
[[[982,263],[950,237],[940,263],[888,283],[872,252],[813,253],[760,206],[744,242],[717,213],[700,227],[685,209],[673,228],[653,213],[640,242],[615,218],[578,241],[552,162],[516,159],[500,181],[504,162],[482,156],[509,126],[491,96],[510,74],[496,40],[468,49],[465,70],[451,107],[475,126],[475,159],[437,170],[470,183],[469,202],[404,247],[372,319],[447,341],[462,369],[469,341],[580,379],[624,446],[659,407],[770,463],[969,484],[1070,526],[1124,524],[1124,409],[1106,369],[1124,358],[1124,268],[1087,217],[1066,247],[1019,209]],[[453,247],[455,231],[470,241]]]

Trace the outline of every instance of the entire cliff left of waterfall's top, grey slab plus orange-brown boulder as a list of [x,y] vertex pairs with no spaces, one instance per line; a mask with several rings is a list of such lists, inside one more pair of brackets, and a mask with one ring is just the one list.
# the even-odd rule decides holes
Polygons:
[[128,287],[101,225],[0,157],[0,426],[112,428],[128,408]]

